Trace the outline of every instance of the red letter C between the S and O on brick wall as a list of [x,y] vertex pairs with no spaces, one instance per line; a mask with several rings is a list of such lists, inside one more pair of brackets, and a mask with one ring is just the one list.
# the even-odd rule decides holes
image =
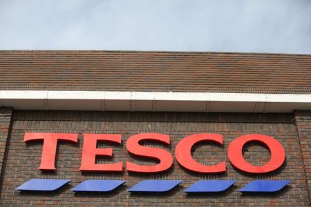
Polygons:
[[200,141],[214,141],[217,144],[223,144],[223,135],[216,134],[197,134],[185,137],[180,140],[175,149],[175,157],[178,163],[194,172],[211,173],[211,172],[225,172],[226,163],[225,161],[214,166],[205,166],[199,164],[191,156],[191,148]]

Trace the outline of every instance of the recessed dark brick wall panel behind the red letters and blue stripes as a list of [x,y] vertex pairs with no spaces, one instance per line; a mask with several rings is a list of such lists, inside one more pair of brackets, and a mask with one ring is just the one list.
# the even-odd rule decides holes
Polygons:
[[[292,114],[234,114],[234,113],[186,113],[186,112],[68,112],[68,111],[15,111],[12,132],[6,157],[6,170],[1,185],[2,206],[310,206],[303,170],[303,161],[296,126]],[[25,132],[79,133],[78,144],[61,142],[58,145],[55,172],[41,172],[39,167],[42,143],[26,144]],[[156,144],[173,155],[180,139],[202,132],[223,135],[223,146],[198,144],[194,147],[194,159],[202,164],[217,164],[225,159],[227,172],[218,175],[198,175],[181,168],[176,159],[168,172],[156,175],[129,173],[80,172],[82,133],[117,133],[122,144],[98,144],[99,148],[111,146],[109,161],[134,161],[138,164],[154,164],[128,154],[125,143],[131,135],[140,132],[158,132],[170,135],[171,146]],[[267,175],[249,175],[236,170],[229,163],[229,143],[241,135],[258,133],[278,139],[285,148],[285,164]],[[300,137],[301,138],[301,137]],[[154,143],[146,143],[155,146]],[[244,157],[254,165],[269,161],[270,152],[258,144],[243,148]],[[174,156],[173,156],[174,157]],[[68,186],[55,193],[19,193],[17,186],[32,178],[71,179]],[[70,191],[86,179],[124,179],[126,185],[113,193],[79,193]],[[143,179],[182,179],[178,188],[165,194],[131,194],[127,190]],[[225,193],[187,195],[183,190],[200,179],[236,179],[236,184]],[[238,192],[254,179],[290,179],[292,182],[279,193],[269,195]]]

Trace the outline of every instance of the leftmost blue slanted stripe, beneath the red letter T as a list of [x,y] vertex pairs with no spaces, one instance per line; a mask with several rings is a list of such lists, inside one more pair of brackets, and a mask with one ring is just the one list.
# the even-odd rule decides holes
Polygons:
[[30,179],[15,189],[20,191],[53,191],[69,182],[70,179]]

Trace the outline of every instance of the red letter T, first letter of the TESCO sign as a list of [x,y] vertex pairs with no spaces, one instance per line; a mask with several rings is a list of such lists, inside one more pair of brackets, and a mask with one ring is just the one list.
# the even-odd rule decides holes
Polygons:
[[77,134],[66,133],[25,133],[24,141],[43,140],[41,164],[39,170],[55,170],[55,155],[58,140],[73,141],[77,143]]

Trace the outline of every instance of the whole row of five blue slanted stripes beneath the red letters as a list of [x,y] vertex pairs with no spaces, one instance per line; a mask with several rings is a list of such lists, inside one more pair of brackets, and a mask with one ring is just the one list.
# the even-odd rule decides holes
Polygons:
[[[70,179],[30,179],[16,190],[20,191],[53,191],[65,186]],[[72,190],[74,192],[110,192],[123,185],[124,180],[86,180]],[[129,189],[135,193],[162,193],[178,186],[181,180],[144,180]],[[201,180],[192,184],[185,193],[216,193],[227,190],[236,180]],[[255,180],[240,190],[241,193],[273,193],[281,190],[290,180]]]

